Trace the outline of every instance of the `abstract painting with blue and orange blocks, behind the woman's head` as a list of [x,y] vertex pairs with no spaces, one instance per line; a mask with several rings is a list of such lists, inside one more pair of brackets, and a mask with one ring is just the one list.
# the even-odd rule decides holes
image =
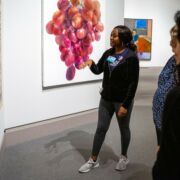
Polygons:
[[139,60],[150,61],[152,49],[152,19],[125,18],[124,25],[133,33],[133,43],[137,46]]

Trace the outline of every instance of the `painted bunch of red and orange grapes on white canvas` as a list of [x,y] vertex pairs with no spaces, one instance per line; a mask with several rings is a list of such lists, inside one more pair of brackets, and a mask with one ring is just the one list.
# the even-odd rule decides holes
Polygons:
[[46,24],[46,31],[55,35],[60,59],[67,66],[66,79],[72,80],[76,69],[89,59],[92,42],[99,41],[104,30],[98,0],[58,0],[58,10]]

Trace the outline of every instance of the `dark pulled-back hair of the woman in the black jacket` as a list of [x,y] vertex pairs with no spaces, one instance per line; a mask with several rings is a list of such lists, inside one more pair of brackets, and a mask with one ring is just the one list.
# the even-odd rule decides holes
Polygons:
[[132,51],[137,51],[136,45],[132,43],[132,32],[127,26],[119,25],[114,27],[114,29],[118,30],[119,39],[122,41],[124,47]]

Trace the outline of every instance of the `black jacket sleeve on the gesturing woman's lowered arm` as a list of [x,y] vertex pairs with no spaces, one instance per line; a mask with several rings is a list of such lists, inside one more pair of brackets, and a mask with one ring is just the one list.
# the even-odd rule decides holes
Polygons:
[[128,60],[128,90],[126,94],[126,98],[123,101],[122,106],[124,108],[128,108],[129,105],[131,104],[138,85],[139,81],[139,60],[137,57],[130,57],[127,59]]

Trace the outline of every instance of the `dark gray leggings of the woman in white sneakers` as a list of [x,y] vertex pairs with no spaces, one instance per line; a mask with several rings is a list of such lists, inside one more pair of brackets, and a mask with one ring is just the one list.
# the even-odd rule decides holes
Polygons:
[[128,113],[125,117],[118,117],[117,112],[121,103],[113,103],[101,98],[98,112],[98,124],[94,136],[92,156],[98,156],[101,146],[104,142],[106,132],[114,112],[116,113],[117,122],[121,133],[121,154],[127,156],[127,150],[130,143],[131,132],[129,128],[130,116],[132,112],[133,102],[128,108]]

